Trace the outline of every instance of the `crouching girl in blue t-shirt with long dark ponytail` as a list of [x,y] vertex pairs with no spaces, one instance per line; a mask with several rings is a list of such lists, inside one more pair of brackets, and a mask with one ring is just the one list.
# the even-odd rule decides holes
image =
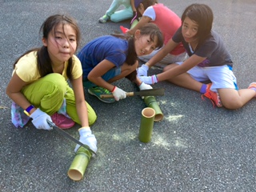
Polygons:
[[[82,63],[83,85],[89,94],[109,103],[126,98],[124,90],[111,84],[118,79],[129,78],[141,90],[150,88],[136,77],[137,57],[150,54],[162,44],[162,32],[153,23],[136,30],[134,37],[114,34],[95,38],[78,53]],[[101,94],[113,94],[114,98],[101,98]]]

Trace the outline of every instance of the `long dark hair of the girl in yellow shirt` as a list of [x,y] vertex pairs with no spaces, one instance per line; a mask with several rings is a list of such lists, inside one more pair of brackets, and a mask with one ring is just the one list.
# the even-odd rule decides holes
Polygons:
[[[74,18],[68,17],[66,15],[63,14],[54,14],[52,16],[50,16],[49,18],[46,18],[46,21],[42,23],[42,26],[40,27],[39,33],[42,33],[42,38],[48,38],[50,32],[52,30],[55,30],[56,26],[58,26],[59,24],[62,24],[62,28],[64,29],[65,25],[70,25],[75,33],[76,33],[76,40],[77,40],[77,48],[78,48],[78,44],[80,41],[80,30],[78,28],[78,24],[77,22],[74,20]],[[64,30],[63,30],[64,31]],[[51,74],[53,73],[53,69],[51,66],[51,61],[50,61],[50,56],[47,50],[46,46],[42,46],[41,48],[35,48],[32,50],[28,50],[26,51],[25,54],[22,54],[22,56],[20,56],[15,62],[14,62],[14,67],[16,65],[16,63],[18,62],[18,60],[20,58],[22,58],[24,55],[29,54],[32,51],[37,51],[37,55],[38,55],[38,71],[39,74],[41,75],[41,77],[46,76],[46,74]],[[68,66],[67,66],[67,70],[66,70],[66,75],[68,78],[70,78],[70,80],[73,79],[71,70],[72,70],[72,66],[73,66],[73,58],[70,58],[68,60]]]

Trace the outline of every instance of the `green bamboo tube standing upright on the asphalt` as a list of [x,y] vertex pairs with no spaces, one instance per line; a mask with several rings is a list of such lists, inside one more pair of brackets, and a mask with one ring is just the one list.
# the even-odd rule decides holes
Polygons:
[[154,109],[146,107],[142,110],[141,124],[138,139],[141,142],[150,142],[154,126]]

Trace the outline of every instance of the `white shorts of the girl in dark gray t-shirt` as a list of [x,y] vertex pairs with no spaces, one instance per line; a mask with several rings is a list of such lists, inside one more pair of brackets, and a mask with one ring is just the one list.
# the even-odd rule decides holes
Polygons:
[[[182,62],[178,62],[181,65]],[[237,78],[235,78],[230,66],[194,66],[187,71],[192,78],[198,82],[212,82],[210,90],[217,92],[218,89],[235,89],[238,90]]]

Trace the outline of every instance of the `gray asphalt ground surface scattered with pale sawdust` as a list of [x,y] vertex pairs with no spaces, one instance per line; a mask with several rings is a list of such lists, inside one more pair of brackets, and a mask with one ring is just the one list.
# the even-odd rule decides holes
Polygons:
[[[51,14],[70,14],[82,30],[81,45],[93,38],[129,27],[129,21],[98,23],[111,0],[0,0],[0,191],[255,191],[256,99],[240,110],[213,108],[201,95],[160,82],[157,97],[164,114],[154,123],[151,142],[138,141],[139,97],[114,104],[99,102],[86,91],[98,114],[92,130],[98,155],[85,178],[74,182],[67,170],[74,159],[74,142],[55,131],[36,130],[32,123],[16,129],[10,121],[10,98],[5,94],[14,60],[41,46],[38,30]],[[162,0],[179,16],[191,0]],[[234,61],[238,86],[255,82],[256,1],[199,1],[214,11],[214,30],[222,35]],[[150,70],[150,74],[161,70]],[[123,90],[137,87],[116,82]],[[78,138],[76,125],[69,134]]]

